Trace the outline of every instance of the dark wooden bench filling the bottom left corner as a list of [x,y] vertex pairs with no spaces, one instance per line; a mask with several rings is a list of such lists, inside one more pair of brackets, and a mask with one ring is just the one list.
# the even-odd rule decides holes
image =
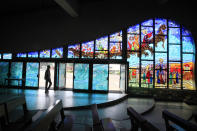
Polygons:
[[[25,96],[13,96],[1,101],[1,110],[4,113],[1,114],[3,120],[1,119],[1,129],[2,130],[23,130],[28,124],[31,123],[31,117],[34,115],[35,111],[29,112],[27,110],[27,105],[25,101]],[[19,106],[22,106],[22,110],[19,110],[19,114],[22,114],[17,120],[10,120],[10,117],[13,118],[11,113]],[[19,114],[15,114],[15,117]]]

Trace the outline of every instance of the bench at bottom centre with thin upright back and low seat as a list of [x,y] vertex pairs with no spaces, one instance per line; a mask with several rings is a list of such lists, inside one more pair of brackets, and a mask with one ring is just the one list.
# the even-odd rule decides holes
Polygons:
[[92,105],[92,120],[93,120],[93,130],[94,131],[115,131],[116,128],[112,123],[110,118],[105,118],[100,120],[97,104]]

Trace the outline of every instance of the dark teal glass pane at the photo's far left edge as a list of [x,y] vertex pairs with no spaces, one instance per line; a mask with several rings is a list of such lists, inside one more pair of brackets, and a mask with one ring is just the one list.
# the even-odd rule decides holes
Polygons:
[[4,85],[8,78],[9,62],[0,62],[0,85]]

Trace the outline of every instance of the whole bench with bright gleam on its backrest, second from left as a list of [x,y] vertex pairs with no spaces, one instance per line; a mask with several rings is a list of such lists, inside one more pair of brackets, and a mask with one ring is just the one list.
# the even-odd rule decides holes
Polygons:
[[[55,119],[58,121],[55,121]],[[57,100],[46,111],[41,113],[40,117],[26,128],[26,131],[71,131],[73,124],[72,116],[65,116],[61,100]]]

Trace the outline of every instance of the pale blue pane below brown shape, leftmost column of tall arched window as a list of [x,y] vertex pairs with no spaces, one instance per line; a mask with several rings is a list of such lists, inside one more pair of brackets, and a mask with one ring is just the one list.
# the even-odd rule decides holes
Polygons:
[[129,57],[127,61],[129,62],[129,68],[139,68],[139,56],[136,52],[127,52]]

